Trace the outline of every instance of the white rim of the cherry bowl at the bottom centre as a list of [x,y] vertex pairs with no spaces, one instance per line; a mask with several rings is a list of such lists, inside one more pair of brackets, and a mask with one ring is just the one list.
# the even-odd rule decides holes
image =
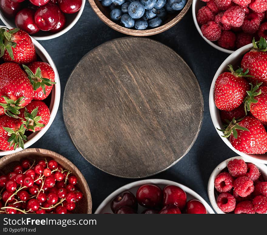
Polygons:
[[211,206],[194,190],[188,188],[187,186],[184,186],[183,184],[171,181],[171,180],[166,180],[166,179],[143,179],[143,180],[138,180],[131,182],[129,184],[126,184],[118,189],[116,189],[114,192],[110,193],[109,196],[106,197],[106,199],[103,200],[103,202],[97,207],[95,214],[99,214],[101,210],[108,204],[110,201],[117,196],[119,193],[131,189],[133,187],[141,186],[143,184],[164,184],[164,185],[175,185],[183,189],[186,193],[191,194],[194,196],[196,199],[201,201],[205,208],[207,209],[208,213],[210,214],[215,214],[214,211],[212,210]]

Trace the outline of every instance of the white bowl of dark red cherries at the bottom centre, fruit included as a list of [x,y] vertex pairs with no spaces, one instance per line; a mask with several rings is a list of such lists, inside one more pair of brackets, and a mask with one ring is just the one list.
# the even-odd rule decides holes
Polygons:
[[145,179],[111,193],[95,214],[214,214],[188,187],[170,180]]

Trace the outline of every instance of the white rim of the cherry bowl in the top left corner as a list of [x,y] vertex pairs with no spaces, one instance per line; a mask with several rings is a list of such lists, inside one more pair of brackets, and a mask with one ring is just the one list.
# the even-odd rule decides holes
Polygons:
[[[53,39],[53,38],[57,38],[61,35],[63,35],[64,33],[68,32],[76,23],[77,21],[79,20],[79,18],[81,17],[82,13],[83,13],[83,9],[84,9],[84,6],[85,6],[85,2],[86,0],[82,0],[82,6],[81,8],[79,9],[78,11],[78,14],[76,15],[76,17],[73,19],[73,21],[63,30],[59,31],[59,32],[56,32],[52,35],[49,35],[49,36],[31,36],[32,38],[34,38],[35,40],[49,40],[49,39]],[[2,22],[9,28],[13,28],[12,25],[10,25],[4,18],[2,12],[0,11],[0,19],[2,20]],[[14,23],[15,25],[15,23]]]

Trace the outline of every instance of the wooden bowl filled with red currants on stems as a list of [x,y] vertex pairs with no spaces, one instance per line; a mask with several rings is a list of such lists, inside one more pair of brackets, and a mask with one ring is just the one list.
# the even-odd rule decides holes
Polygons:
[[0,214],[90,214],[90,189],[67,158],[29,148],[0,159]]

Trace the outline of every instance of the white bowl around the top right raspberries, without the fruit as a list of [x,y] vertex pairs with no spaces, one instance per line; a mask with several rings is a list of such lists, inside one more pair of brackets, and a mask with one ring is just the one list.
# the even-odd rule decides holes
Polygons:
[[193,15],[193,20],[194,20],[194,24],[199,32],[199,34],[201,35],[201,37],[208,43],[210,44],[212,47],[214,47],[215,49],[219,50],[219,51],[222,51],[222,52],[225,52],[225,53],[228,53],[228,54],[232,54],[234,51],[232,50],[228,50],[228,49],[224,49],[218,45],[216,45],[215,43],[211,42],[210,40],[206,39],[202,32],[201,32],[201,29],[198,25],[198,22],[197,22],[197,14],[198,14],[198,10],[205,6],[206,3],[205,2],[202,2],[201,0],[193,0],[193,3],[192,3],[192,15]]

